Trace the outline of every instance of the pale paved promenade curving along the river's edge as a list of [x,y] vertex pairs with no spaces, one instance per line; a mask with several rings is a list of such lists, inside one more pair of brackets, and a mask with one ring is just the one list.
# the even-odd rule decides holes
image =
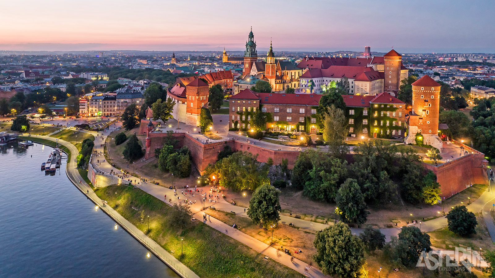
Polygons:
[[[24,135],[27,136],[27,135]],[[162,262],[164,262],[168,267],[170,267],[173,271],[175,271],[182,278],[199,278],[192,270],[187,268],[184,264],[182,264],[179,260],[177,260],[174,256],[168,253],[165,249],[163,249],[158,243],[149,238],[144,232],[136,228],[136,226],[132,225],[127,219],[118,214],[113,208],[108,205],[103,205],[103,201],[97,196],[97,194],[93,191],[90,185],[88,185],[84,179],[79,174],[77,170],[77,154],[79,153],[76,146],[73,144],[61,140],[55,139],[48,136],[41,135],[31,135],[33,141],[36,141],[35,138],[47,139],[56,143],[59,143],[65,147],[67,147],[71,152],[71,158],[67,161],[67,168],[65,173],[69,180],[79,189],[82,193],[84,193],[93,203],[95,203],[98,208],[101,209],[104,213],[106,213],[110,218],[112,218],[120,227],[125,229],[129,234],[131,234],[134,238],[136,238],[143,246],[145,246],[151,253],[153,253],[157,258],[159,258]]]

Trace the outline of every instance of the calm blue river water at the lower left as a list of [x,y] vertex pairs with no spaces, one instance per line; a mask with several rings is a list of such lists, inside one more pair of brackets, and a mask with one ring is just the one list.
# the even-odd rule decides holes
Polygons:
[[0,278],[177,278],[85,197],[41,171],[51,147],[0,146]]

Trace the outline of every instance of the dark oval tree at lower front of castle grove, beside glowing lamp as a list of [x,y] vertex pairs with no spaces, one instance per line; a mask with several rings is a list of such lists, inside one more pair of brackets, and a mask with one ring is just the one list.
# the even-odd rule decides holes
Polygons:
[[347,179],[341,185],[335,198],[337,207],[342,211],[342,217],[349,222],[355,222],[357,225],[364,224],[369,211],[366,210],[364,195],[361,193],[356,180]]

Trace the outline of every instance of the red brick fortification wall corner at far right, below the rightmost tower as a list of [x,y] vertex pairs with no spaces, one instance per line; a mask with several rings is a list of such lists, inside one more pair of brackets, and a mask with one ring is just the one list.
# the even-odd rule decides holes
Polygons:
[[485,155],[472,153],[459,157],[438,167],[424,163],[428,170],[437,175],[437,182],[441,185],[441,196],[448,198],[471,184],[488,184],[487,164],[483,162]]

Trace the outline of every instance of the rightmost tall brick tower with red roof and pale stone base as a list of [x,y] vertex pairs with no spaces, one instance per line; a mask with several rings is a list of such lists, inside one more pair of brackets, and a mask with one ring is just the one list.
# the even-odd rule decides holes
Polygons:
[[425,144],[442,150],[442,140],[438,137],[440,87],[428,75],[412,84],[412,111],[406,143],[414,143],[416,134],[420,133]]

